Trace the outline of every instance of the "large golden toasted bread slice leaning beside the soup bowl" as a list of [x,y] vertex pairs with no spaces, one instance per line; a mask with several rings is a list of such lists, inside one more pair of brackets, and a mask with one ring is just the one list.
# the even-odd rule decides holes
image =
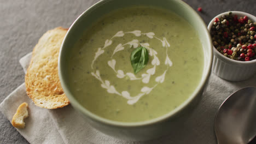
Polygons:
[[28,97],[46,109],[57,109],[69,104],[60,84],[58,57],[67,29],[57,27],[46,32],[32,52],[25,76]]

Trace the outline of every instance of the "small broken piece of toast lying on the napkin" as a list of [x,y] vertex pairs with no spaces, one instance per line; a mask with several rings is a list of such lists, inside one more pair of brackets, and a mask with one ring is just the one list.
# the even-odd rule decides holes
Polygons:
[[13,120],[11,121],[11,124],[13,124],[13,127],[18,129],[25,128],[25,122],[24,119],[28,117],[28,111],[27,111],[28,105],[27,103],[22,103],[15,115],[13,116]]

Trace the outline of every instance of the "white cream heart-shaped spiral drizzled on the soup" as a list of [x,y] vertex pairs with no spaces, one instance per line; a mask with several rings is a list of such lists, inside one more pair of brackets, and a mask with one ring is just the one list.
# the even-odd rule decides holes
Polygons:
[[[136,37],[141,37],[141,35],[146,35],[146,37],[148,37],[149,39],[153,39],[153,38],[158,39],[161,42],[162,47],[166,48],[166,59],[165,59],[165,63],[164,63],[166,65],[166,70],[164,71],[163,74],[161,74],[155,78],[156,83],[153,87],[147,87],[147,86],[142,87],[141,92],[139,92],[134,97],[131,97],[131,95],[128,91],[118,92],[117,89],[115,89],[115,87],[113,85],[110,85],[109,80],[102,80],[101,75],[100,75],[100,70],[96,70],[96,71],[94,70],[94,62],[97,60],[97,58],[99,56],[101,56],[104,53],[104,49],[106,49],[108,46],[112,45],[113,39],[115,37],[124,37],[125,34],[134,34]],[[130,48],[132,48],[132,47],[137,48],[139,45],[141,45],[149,51],[149,56],[153,57],[153,60],[151,62],[153,67],[148,69],[146,71],[146,74],[142,74],[141,77],[136,77],[135,74],[133,74],[133,73],[130,73],[130,72],[124,73],[124,71],[121,69],[119,69],[119,70],[115,69],[115,64],[117,63],[117,61],[115,61],[115,59],[113,59],[113,56],[115,55],[115,53],[124,50],[125,45],[129,45]],[[170,60],[170,58],[168,57],[168,54],[167,54],[168,47],[170,47],[170,44],[168,43],[167,39],[165,37],[163,39],[155,37],[155,33],[153,33],[153,32],[141,33],[141,31],[138,31],[138,30],[131,31],[131,32],[119,31],[112,38],[107,39],[102,48],[101,47],[98,48],[97,52],[95,53],[95,57],[94,57],[93,61],[91,62],[91,68],[93,71],[93,72],[91,72],[91,75],[94,76],[97,80],[99,80],[101,82],[101,87],[105,88],[108,93],[120,95],[121,97],[124,97],[125,99],[127,99],[127,104],[133,105],[133,104],[137,103],[137,101],[141,97],[143,97],[143,95],[149,94],[151,91],[153,91],[153,89],[156,86],[158,86],[159,83],[164,82],[165,74],[168,71],[168,67],[172,67],[172,61]],[[133,39],[125,44],[118,44],[115,47],[113,54],[110,57],[111,59],[107,62],[107,64],[109,65],[110,68],[113,69],[117,78],[123,79],[124,77],[126,77],[129,80],[142,80],[142,82],[146,84],[146,83],[149,83],[150,77],[155,74],[157,66],[160,65],[160,61],[159,61],[159,58],[157,57],[157,55],[158,55],[158,52],[156,52],[154,49],[152,49],[148,43],[139,43],[139,41],[137,39]]]

